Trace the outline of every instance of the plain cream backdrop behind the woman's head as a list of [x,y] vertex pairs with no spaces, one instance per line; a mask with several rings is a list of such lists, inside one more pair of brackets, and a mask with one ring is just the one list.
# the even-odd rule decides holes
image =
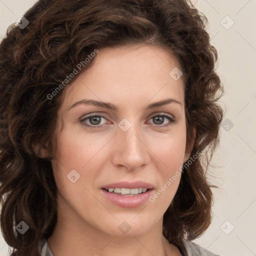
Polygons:
[[[35,0],[0,0],[0,38]],[[194,242],[221,256],[256,255],[256,1],[193,0],[208,19],[225,94],[220,145],[210,168],[213,220]],[[8,246],[0,234],[0,256]]]

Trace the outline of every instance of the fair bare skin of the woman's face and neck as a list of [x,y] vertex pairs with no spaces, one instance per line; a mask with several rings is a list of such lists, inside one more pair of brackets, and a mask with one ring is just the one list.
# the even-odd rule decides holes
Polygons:
[[[52,160],[58,218],[47,239],[54,256],[181,255],[162,235],[163,214],[180,176],[154,202],[134,208],[115,205],[100,192],[102,185],[121,180],[143,180],[157,191],[188,159],[183,82],[182,76],[174,80],[169,75],[174,67],[181,69],[158,46],[102,48],[92,65],[64,88]],[[87,104],[68,110],[85,98],[110,102],[118,110]],[[145,109],[166,98],[180,104]],[[104,117],[80,122],[90,114]],[[165,117],[157,121],[160,114],[174,117],[176,122]],[[118,127],[123,118],[132,124],[126,131]],[[98,123],[102,126],[84,125]],[[167,123],[171,125],[163,127]],[[72,169],[80,175],[74,183],[67,178]],[[126,234],[118,228],[123,221],[130,226]]]

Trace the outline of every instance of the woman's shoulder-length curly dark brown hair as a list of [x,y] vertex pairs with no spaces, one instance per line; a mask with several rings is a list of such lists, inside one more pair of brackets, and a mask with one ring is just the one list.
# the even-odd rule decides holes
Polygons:
[[[56,223],[51,159],[64,88],[50,100],[47,95],[93,49],[140,42],[159,45],[179,61],[187,150],[194,127],[191,155],[201,153],[183,168],[163,216],[163,235],[169,242],[201,235],[212,217],[206,171],[223,116],[207,18],[186,0],[39,0],[24,17],[29,24],[10,25],[0,43],[0,225],[6,243],[17,256],[39,255],[39,239],[47,239]],[[46,142],[51,157],[42,158],[33,145]],[[21,220],[29,226],[24,234],[13,228]]]

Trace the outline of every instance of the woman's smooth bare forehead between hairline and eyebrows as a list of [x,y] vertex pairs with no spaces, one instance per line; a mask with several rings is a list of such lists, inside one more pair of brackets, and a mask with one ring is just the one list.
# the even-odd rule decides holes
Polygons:
[[[170,72],[181,69],[178,61],[159,46],[136,44],[99,50],[89,68],[65,88],[64,106],[83,98],[124,103],[174,97],[183,104],[182,76]],[[142,103],[142,102],[141,102]],[[144,102],[145,103],[145,102]]]

